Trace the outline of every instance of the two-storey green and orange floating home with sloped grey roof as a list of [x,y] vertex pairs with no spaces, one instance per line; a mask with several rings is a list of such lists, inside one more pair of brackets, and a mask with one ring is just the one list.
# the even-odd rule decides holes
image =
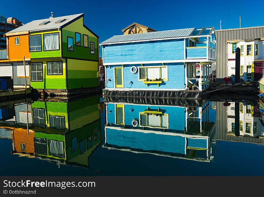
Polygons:
[[12,76],[14,86],[38,91],[98,87],[98,36],[83,22],[84,14],[34,20],[5,34],[0,51],[0,76]]

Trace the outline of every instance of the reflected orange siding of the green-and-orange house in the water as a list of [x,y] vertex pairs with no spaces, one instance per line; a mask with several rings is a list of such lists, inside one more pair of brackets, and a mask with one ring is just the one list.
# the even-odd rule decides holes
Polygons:
[[28,135],[26,129],[14,128],[13,143],[15,151],[21,152],[21,144],[25,144],[25,152],[35,154],[34,134],[35,132],[33,130],[29,130]]

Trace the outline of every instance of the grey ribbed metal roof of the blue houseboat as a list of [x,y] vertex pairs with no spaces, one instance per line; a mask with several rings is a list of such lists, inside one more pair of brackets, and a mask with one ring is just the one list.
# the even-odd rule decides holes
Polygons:
[[129,42],[137,40],[152,40],[152,39],[162,39],[162,38],[174,38],[174,37],[187,37],[190,36],[195,28],[186,28],[186,29],[175,29],[167,31],[155,31],[141,34],[127,34],[127,35],[117,35],[113,36],[104,42],[104,43],[116,43],[116,42]]

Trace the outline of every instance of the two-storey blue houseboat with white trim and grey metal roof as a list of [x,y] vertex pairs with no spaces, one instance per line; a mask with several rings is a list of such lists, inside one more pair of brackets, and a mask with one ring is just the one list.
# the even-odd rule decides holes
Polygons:
[[202,98],[209,87],[214,27],[116,35],[100,46],[105,95]]

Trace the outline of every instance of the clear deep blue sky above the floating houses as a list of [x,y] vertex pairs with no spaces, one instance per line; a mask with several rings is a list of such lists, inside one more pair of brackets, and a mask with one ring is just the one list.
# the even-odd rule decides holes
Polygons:
[[[5,4],[5,3],[4,3]],[[262,1],[254,1],[261,5]],[[14,6],[1,6],[0,15],[16,17],[23,23],[51,16],[84,13],[84,24],[99,36],[102,42],[113,35],[122,34],[122,29],[133,22],[146,25],[157,31],[210,27],[220,29],[262,26],[262,12],[249,9],[248,1],[12,1]],[[101,50],[100,50],[101,51]],[[100,52],[101,54],[101,52]]]

